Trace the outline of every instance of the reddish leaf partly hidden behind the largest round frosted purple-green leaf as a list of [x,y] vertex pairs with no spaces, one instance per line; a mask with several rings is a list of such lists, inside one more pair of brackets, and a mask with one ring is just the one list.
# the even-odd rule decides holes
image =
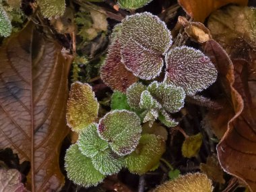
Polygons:
[[100,69],[100,76],[104,84],[120,92],[125,92],[131,84],[137,82],[137,77],[121,63],[120,43],[117,39],[109,47],[108,56]]

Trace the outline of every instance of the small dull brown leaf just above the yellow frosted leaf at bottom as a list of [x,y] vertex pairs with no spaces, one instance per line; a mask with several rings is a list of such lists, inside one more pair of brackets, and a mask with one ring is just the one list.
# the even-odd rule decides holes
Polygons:
[[207,177],[212,179],[212,181],[222,183],[222,184],[225,183],[225,180],[223,178],[224,172],[216,156],[208,156],[206,163],[200,164],[200,170],[201,172],[207,174]]

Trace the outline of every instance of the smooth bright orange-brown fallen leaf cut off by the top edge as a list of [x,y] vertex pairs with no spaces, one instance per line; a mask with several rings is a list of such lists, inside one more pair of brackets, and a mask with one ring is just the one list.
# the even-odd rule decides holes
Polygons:
[[178,3],[191,18],[203,23],[205,18],[216,9],[229,3],[246,6],[248,0],[179,0]]

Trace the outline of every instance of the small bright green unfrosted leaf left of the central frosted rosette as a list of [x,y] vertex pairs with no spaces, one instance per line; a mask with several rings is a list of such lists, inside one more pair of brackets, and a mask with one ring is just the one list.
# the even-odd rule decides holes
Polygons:
[[127,101],[126,94],[123,94],[122,92],[115,91],[111,98],[111,109],[126,109],[129,110],[130,106]]

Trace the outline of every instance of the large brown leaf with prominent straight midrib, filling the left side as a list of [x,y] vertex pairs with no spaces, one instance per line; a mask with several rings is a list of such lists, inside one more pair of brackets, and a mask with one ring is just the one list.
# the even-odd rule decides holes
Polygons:
[[59,149],[67,135],[65,104],[69,61],[61,46],[34,24],[0,49],[0,148],[10,147],[31,169],[28,189],[57,191],[64,177]]

